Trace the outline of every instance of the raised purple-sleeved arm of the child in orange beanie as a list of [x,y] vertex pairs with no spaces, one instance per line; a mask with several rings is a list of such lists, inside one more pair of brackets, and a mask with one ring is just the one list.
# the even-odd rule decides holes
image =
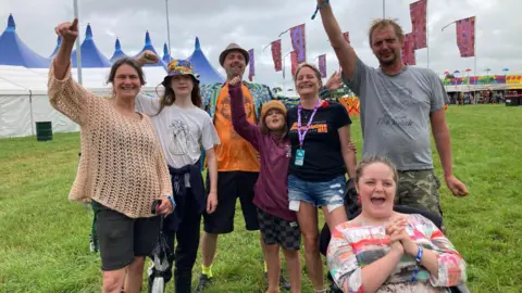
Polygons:
[[261,130],[254,124],[247,120],[245,113],[245,101],[243,98],[241,82],[239,78],[234,78],[228,82],[228,94],[231,95],[231,114],[234,130],[259,150],[258,139]]

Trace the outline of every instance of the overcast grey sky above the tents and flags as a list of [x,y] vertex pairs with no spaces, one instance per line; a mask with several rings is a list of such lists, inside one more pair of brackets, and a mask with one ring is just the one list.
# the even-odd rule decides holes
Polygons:
[[[87,23],[92,26],[98,49],[111,58],[114,41],[120,37],[127,54],[138,52],[144,46],[145,31],[149,30],[153,46],[162,52],[166,41],[164,0],[78,0],[80,40]],[[377,66],[368,43],[368,28],[374,18],[383,16],[383,0],[331,0],[343,30],[350,31],[351,44],[359,56]],[[387,0],[386,16],[399,21],[406,33],[411,31],[409,4],[413,0]],[[187,58],[194,50],[198,36],[203,52],[211,64],[220,69],[217,56],[229,43],[237,42],[256,53],[256,79],[270,86],[282,86],[281,72],[275,73],[268,48],[279,33],[306,23],[308,61],[327,54],[328,75],[338,63],[327,42],[318,17],[311,21],[315,0],[169,0],[172,55]],[[430,67],[437,74],[474,69],[474,58],[462,59],[456,44],[455,25],[444,31],[447,24],[476,15],[476,69],[485,74],[489,67],[500,74],[505,67],[510,73],[522,73],[522,0],[430,0],[428,47]],[[37,53],[49,56],[55,47],[53,27],[72,20],[73,0],[0,0],[0,21],[7,25],[13,13],[16,31],[22,40]],[[1,30],[3,30],[3,27]],[[0,30],[0,31],[1,31]],[[290,51],[290,37],[282,36],[283,55]],[[418,66],[427,66],[427,49],[417,52]],[[316,62],[313,61],[313,62]],[[289,72],[289,55],[286,59]],[[248,69],[246,76],[248,75]],[[245,76],[245,77],[246,77]],[[290,80],[286,79],[286,87]]]

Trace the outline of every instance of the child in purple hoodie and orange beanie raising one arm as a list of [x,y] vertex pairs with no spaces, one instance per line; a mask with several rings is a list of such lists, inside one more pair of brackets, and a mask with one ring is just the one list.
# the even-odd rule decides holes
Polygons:
[[257,126],[247,120],[239,77],[228,82],[228,93],[234,130],[260,154],[261,171],[254,187],[253,204],[258,207],[259,227],[265,243],[266,292],[279,292],[279,246],[286,258],[291,292],[300,292],[301,233],[296,213],[288,208],[287,178],[291,146],[287,138],[286,107],[275,100],[264,103]]

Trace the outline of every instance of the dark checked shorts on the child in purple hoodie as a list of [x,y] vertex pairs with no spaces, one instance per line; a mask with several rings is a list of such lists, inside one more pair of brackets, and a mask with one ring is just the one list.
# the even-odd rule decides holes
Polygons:
[[297,221],[287,221],[258,208],[258,220],[263,242],[268,245],[279,244],[290,252],[299,251],[301,231]]

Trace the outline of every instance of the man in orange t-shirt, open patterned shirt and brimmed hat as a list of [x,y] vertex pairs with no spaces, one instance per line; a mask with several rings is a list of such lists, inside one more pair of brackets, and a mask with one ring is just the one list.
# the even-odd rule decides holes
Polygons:
[[[259,230],[257,207],[253,204],[253,186],[260,170],[258,152],[234,130],[228,97],[228,81],[236,76],[243,77],[248,62],[248,52],[231,43],[220,55],[221,66],[226,72],[226,82],[201,86],[203,104],[213,117],[221,145],[214,146],[217,160],[217,207],[212,214],[203,214],[202,273],[196,292],[203,292],[212,278],[211,266],[216,251],[217,235],[234,231],[237,198],[241,203],[246,229]],[[247,119],[258,124],[261,105],[272,99],[270,89],[263,85],[244,81],[243,94]],[[261,238],[260,242],[263,247]],[[282,286],[289,288],[284,279],[282,282]]]

